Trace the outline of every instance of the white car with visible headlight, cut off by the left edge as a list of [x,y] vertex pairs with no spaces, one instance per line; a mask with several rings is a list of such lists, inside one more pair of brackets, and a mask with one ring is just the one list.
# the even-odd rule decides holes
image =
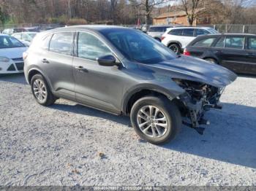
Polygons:
[[7,34],[0,34],[0,74],[23,72],[23,52],[27,47]]

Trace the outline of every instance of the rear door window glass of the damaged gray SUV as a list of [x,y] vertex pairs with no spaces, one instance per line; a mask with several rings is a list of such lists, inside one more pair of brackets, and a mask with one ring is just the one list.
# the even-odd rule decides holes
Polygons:
[[61,32],[53,34],[49,50],[64,55],[72,55],[73,33]]

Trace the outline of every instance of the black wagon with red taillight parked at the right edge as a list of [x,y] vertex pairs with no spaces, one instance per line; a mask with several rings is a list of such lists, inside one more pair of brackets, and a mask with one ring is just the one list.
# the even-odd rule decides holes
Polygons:
[[198,36],[189,43],[184,50],[184,55],[217,63],[238,74],[256,74],[256,35]]

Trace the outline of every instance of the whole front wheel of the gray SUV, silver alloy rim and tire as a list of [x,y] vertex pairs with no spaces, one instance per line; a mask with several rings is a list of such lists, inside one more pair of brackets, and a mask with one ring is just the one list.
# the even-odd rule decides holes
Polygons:
[[151,144],[173,140],[181,128],[178,107],[164,96],[140,98],[132,106],[130,118],[138,136]]

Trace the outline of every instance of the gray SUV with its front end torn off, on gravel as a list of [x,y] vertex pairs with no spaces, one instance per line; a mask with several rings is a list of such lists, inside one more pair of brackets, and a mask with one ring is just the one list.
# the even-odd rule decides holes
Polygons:
[[172,140],[182,124],[202,134],[208,109],[236,74],[222,66],[176,55],[131,28],[72,26],[37,34],[23,54],[35,100],[65,98],[129,115],[136,133],[152,144]]

